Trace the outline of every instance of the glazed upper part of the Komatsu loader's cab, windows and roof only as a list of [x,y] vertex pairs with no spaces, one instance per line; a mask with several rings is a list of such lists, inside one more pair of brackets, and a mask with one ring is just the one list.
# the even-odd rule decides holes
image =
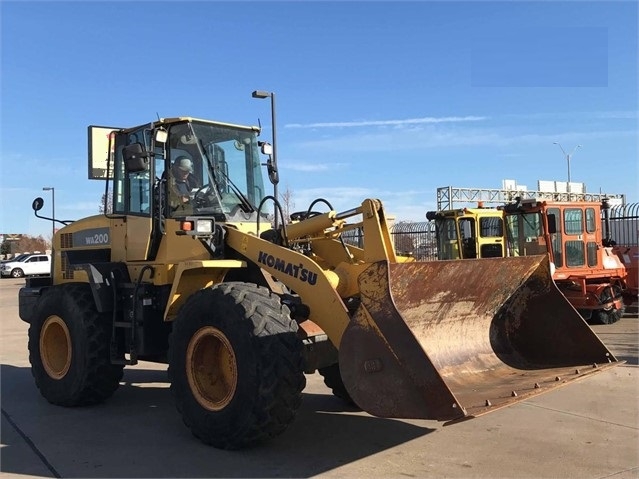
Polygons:
[[[255,221],[265,196],[257,134],[251,127],[190,118],[116,132],[113,212]],[[179,174],[184,164],[185,183]]]

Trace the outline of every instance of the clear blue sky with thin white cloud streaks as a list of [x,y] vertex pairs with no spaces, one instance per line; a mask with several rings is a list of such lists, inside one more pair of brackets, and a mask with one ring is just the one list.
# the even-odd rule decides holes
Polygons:
[[0,233],[96,214],[87,126],[257,124],[276,94],[295,209],[380,198],[424,221],[436,189],[571,179],[638,202],[638,3],[0,3]]

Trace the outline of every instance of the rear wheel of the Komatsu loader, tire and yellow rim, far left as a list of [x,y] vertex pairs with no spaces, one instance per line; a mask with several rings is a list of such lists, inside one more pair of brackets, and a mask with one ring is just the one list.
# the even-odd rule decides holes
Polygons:
[[29,362],[47,401],[87,406],[115,392],[124,366],[111,364],[109,319],[98,313],[88,284],[44,292],[29,327]]

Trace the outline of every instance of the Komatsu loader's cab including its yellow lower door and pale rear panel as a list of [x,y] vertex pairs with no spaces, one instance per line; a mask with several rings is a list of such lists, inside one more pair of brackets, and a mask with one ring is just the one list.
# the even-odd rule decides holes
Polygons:
[[[114,242],[122,244],[113,248],[119,252],[116,259],[154,261],[167,236],[173,244],[176,234],[215,234],[219,243],[221,229],[214,225],[241,223],[255,229],[260,219],[266,221],[269,211],[258,213],[266,196],[259,132],[257,127],[189,117],[133,128],[90,126],[89,178],[109,180],[103,209],[116,221]],[[189,165],[186,191],[173,174],[183,159]],[[180,257],[200,254],[165,244],[167,248],[182,251]]]

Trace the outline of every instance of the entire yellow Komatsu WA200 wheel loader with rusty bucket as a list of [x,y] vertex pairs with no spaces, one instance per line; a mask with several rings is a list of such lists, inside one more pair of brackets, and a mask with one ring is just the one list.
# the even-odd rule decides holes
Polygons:
[[[99,403],[126,365],[166,363],[186,426],[237,449],[291,424],[305,373],[370,414],[449,423],[618,363],[546,256],[410,261],[376,199],[337,212],[320,198],[285,222],[259,133],[190,117],[89,127],[89,177],[110,204],[67,222],[51,277],[19,293],[49,402]],[[196,186],[180,190],[177,167]]]

